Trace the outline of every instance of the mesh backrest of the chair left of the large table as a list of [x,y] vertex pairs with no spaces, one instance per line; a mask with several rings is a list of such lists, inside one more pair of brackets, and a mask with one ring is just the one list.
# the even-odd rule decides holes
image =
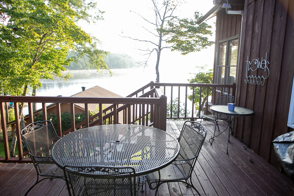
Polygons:
[[21,130],[21,138],[28,152],[39,157],[50,157],[53,145],[59,140],[49,120],[30,123]]

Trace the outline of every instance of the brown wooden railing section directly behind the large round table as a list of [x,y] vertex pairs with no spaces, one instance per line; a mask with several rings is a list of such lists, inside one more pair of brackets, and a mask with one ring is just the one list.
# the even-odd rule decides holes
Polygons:
[[[106,123],[118,124],[141,124],[153,126],[162,130],[166,130],[166,96],[157,92],[158,89],[152,88],[148,92],[144,93],[140,97],[127,97],[127,98],[89,98],[89,97],[37,97],[37,96],[0,96],[0,112],[1,112],[1,125],[3,131],[4,140],[4,152],[5,158],[0,157],[0,162],[14,162],[14,163],[29,163],[31,159],[24,158],[22,142],[21,142],[21,126],[20,126],[20,116],[19,116],[19,103],[27,103],[29,109],[29,122],[34,121],[33,116],[33,103],[42,103],[42,115],[43,120],[47,120],[46,103],[56,103],[56,117],[57,117],[57,127],[56,131],[59,137],[65,134],[75,131],[82,125],[84,127],[102,125]],[[18,158],[11,158],[9,155],[9,145],[7,136],[7,124],[5,117],[4,103],[13,102],[14,103],[14,113],[15,113],[15,129],[17,146],[18,146]],[[61,130],[61,103],[70,104],[70,115],[71,115],[71,129],[62,131]],[[75,124],[75,111],[74,104],[83,103],[85,104],[85,120],[79,124]],[[99,105],[99,112],[89,118],[88,104],[95,103]],[[103,109],[102,104],[112,104],[108,108]],[[152,111],[149,108],[153,108]],[[100,112],[102,111],[102,112]],[[123,113],[122,122],[118,118],[118,114]],[[152,115],[151,115],[152,114]],[[151,120],[151,116],[153,119]],[[95,120],[94,120],[95,119]]]

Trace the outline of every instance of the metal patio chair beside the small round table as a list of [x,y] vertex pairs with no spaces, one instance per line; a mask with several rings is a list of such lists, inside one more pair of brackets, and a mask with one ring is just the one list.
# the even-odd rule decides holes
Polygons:
[[[228,95],[228,94],[221,94],[218,96],[218,99],[216,101],[215,105],[228,105],[228,103],[233,103],[234,102],[234,96],[232,95]],[[218,126],[218,121],[220,120],[228,120],[228,117],[224,114],[220,114],[220,113],[215,113],[213,112],[212,114],[203,114],[203,107],[204,106],[210,106],[210,105],[203,105],[202,106],[202,114],[200,115],[201,121],[202,120],[208,120],[208,121],[212,121],[213,123],[216,123],[216,126],[218,127],[218,130],[220,130],[219,126]],[[200,121],[200,123],[201,123]],[[214,134],[216,133],[216,127],[214,128]]]

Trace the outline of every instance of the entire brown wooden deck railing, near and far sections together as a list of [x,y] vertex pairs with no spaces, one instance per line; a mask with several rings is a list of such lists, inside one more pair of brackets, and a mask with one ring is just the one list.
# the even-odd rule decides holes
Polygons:
[[[196,88],[199,88],[199,95],[195,94]],[[7,126],[15,124],[17,138],[21,138],[19,103],[27,103],[29,114],[27,124],[34,121],[33,103],[42,104],[42,117],[47,120],[46,103],[56,103],[56,119],[57,134],[62,137],[67,133],[75,131],[81,127],[89,127],[102,124],[140,124],[153,126],[162,130],[166,130],[167,119],[191,119],[199,118],[197,111],[201,108],[199,101],[198,108],[195,107],[196,97],[206,98],[206,104],[209,103],[209,89],[218,93],[231,92],[235,96],[235,83],[231,85],[220,84],[178,84],[178,83],[154,83],[143,86],[133,92],[126,98],[89,98],[89,97],[37,97],[37,96],[0,96],[0,112],[1,112],[1,128],[3,131],[5,157],[0,157],[0,162],[29,163],[30,159],[24,158],[21,140],[17,140],[19,156],[18,158],[9,156]],[[189,99],[188,96],[191,95]],[[168,101],[167,101],[168,100]],[[176,101],[174,101],[176,100]],[[15,122],[6,124],[4,103],[14,103]],[[71,128],[68,130],[61,129],[61,109],[62,103],[70,105]],[[85,105],[85,120],[81,123],[75,123],[75,103]],[[88,104],[95,103],[98,105],[99,112],[89,117]],[[110,104],[107,108],[103,108],[103,104]],[[176,112],[169,110],[167,117],[167,105],[170,108],[177,108]],[[207,108],[206,108],[207,110]],[[100,112],[101,111],[101,112]],[[180,112],[182,111],[182,112]],[[119,114],[123,114],[123,118],[119,118]]]

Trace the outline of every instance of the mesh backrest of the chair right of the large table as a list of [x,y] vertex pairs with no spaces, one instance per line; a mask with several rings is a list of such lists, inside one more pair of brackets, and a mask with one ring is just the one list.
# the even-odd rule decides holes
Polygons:
[[177,160],[188,160],[181,164],[183,172],[185,172],[187,176],[191,176],[192,174],[205,137],[206,131],[200,123],[194,121],[186,121],[184,123],[181,134],[178,138],[180,152]]

